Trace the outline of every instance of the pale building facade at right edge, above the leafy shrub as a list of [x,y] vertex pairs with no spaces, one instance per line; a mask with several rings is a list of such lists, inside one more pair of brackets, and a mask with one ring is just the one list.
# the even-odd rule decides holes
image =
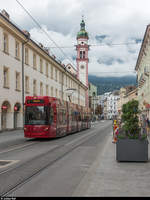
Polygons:
[[135,70],[138,81],[138,101],[142,114],[150,117],[150,25],[147,26]]

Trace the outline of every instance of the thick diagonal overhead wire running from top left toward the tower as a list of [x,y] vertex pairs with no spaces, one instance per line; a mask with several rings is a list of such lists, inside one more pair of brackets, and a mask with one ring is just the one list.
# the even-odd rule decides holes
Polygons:
[[[72,64],[72,61],[70,60],[70,58],[64,53],[64,51],[62,50],[61,47],[59,47],[57,45],[57,43],[49,36],[49,34],[40,26],[40,24],[34,19],[34,17],[29,13],[29,11],[18,1],[16,0],[16,2],[22,7],[22,9],[28,14],[28,16],[34,21],[34,23],[43,31],[43,33],[48,37],[49,40],[51,40],[54,45],[56,46],[55,48],[58,48],[61,53],[65,56],[65,58],[67,58],[70,63]],[[74,66],[74,64],[72,64]]]

